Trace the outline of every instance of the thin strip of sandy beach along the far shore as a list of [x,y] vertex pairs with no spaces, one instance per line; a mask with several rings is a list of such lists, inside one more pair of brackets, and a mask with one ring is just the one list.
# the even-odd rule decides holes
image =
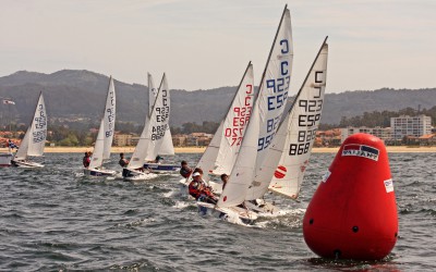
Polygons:
[[[134,147],[112,147],[112,153],[132,153]],[[436,152],[436,147],[407,147],[407,146],[388,146],[386,147],[388,153],[426,153]],[[46,153],[83,153],[93,151],[94,147],[46,147]],[[175,153],[203,153],[206,147],[175,147]],[[314,153],[336,153],[339,147],[317,147],[313,148]],[[0,152],[7,152],[8,148],[0,148]]]

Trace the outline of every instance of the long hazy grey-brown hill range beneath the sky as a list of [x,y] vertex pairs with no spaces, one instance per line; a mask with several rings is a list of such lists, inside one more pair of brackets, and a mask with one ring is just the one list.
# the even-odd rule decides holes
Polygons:
[[[146,79],[144,78],[144,82]],[[160,78],[155,75],[158,83]],[[1,104],[2,120],[8,114],[21,122],[28,122],[39,91],[44,91],[47,111],[51,118],[100,116],[104,108],[108,76],[77,70],[62,70],[52,74],[20,71],[0,77],[0,97],[13,99],[14,107]],[[171,87],[171,78],[169,78]],[[228,109],[237,87],[186,91],[171,89],[171,125],[186,122],[219,122]],[[116,81],[118,121],[142,124],[146,114],[147,87]],[[324,124],[339,124],[342,116],[362,115],[372,111],[398,111],[404,108],[436,106],[436,88],[428,89],[378,89],[327,94],[324,103]]]

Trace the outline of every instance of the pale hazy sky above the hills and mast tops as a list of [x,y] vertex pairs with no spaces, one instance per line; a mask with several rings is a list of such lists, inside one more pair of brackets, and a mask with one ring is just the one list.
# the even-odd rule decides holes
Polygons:
[[[434,0],[0,0],[0,76],[63,69],[171,89],[258,84],[284,4],[300,88],[329,36],[326,92],[436,87]],[[256,85],[257,85],[256,84]]]

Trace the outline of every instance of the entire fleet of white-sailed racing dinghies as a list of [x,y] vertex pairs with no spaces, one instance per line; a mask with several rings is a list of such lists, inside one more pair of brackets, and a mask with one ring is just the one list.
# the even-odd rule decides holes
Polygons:
[[[223,217],[238,214],[244,221],[254,221],[262,212],[276,212],[264,196],[268,191],[290,199],[299,196],[304,172],[324,106],[328,45],[324,40],[299,91],[290,91],[293,69],[293,37],[291,16],[284,8],[268,60],[255,89],[253,64],[250,62],[237,92],[220,122],[210,145],[197,162],[196,171],[189,171],[180,183],[186,188],[198,185],[211,190],[214,201],[205,201],[202,191],[192,194],[202,212]],[[158,88],[148,74],[149,104],[144,128],[130,161],[122,169],[128,181],[146,181],[159,171],[179,171],[179,164],[153,162],[158,156],[174,154],[169,129],[170,91],[164,74]],[[116,175],[104,166],[110,158],[116,124],[116,88],[112,77],[106,97],[94,151],[84,174]],[[293,97],[287,108],[288,97]],[[20,168],[43,168],[29,157],[41,156],[47,135],[47,114],[40,94],[34,118],[17,152],[2,154],[4,161]],[[219,176],[227,176],[222,185]],[[199,176],[199,177],[198,177]],[[203,194],[204,196],[204,194]]]

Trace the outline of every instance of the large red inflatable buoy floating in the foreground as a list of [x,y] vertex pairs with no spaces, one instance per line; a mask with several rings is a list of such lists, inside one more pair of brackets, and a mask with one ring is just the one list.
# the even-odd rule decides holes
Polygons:
[[303,234],[324,258],[379,260],[392,250],[397,205],[379,138],[361,133],[346,139],[307,207]]

